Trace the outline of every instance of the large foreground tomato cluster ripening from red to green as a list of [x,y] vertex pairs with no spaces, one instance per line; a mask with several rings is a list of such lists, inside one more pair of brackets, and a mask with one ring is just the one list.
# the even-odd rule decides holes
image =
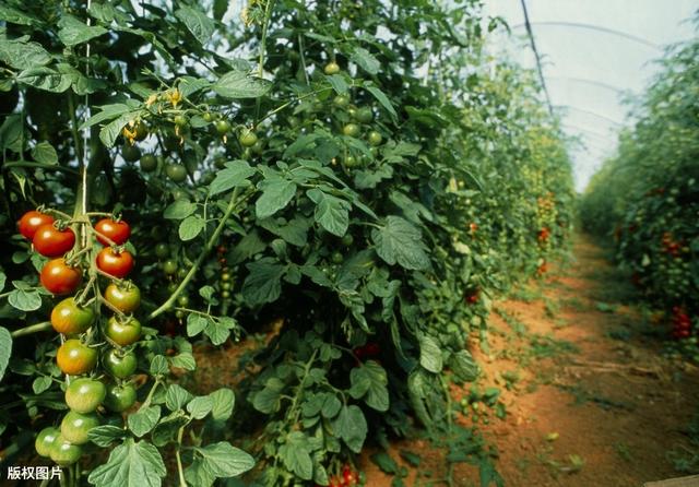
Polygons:
[[[76,225],[88,226],[86,222]],[[104,248],[94,265],[86,265],[85,257],[92,246],[85,239],[76,247],[75,234],[66,223],[31,211],[22,216],[19,228],[36,251],[55,258],[42,270],[42,284],[47,290],[55,295],[72,294],[85,272],[91,276],[83,290],[63,298],[50,314],[52,328],[61,334],[56,361],[67,376],[64,399],[69,412],[59,427],[50,426],[38,433],[35,447],[39,455],[67,466],[81,458],[83,444],[88,441],[87,432],[103,423],[99,409],[121,413],[135,403],[135,388],[129,379],[137,369],[131,345],[141,337],[141,323],[132,314],[140,306],[141,292],[122,281],[133,269],[133,258],[122,247],[131,229],[126,222],[112,218],[103,218],[90,227]],[[100,274],[110,281],[104,295],[96,286]],[[95,286],[91,287],[93,283]],[[97,295],[88,299],[90,290]],[[99,320],[102,304],[114,312],[106,323]],[[108,345],[104,345],[105,341]],[[112,378],[108,384],[96,372],[98,348],[103,348],[102,367]]]

